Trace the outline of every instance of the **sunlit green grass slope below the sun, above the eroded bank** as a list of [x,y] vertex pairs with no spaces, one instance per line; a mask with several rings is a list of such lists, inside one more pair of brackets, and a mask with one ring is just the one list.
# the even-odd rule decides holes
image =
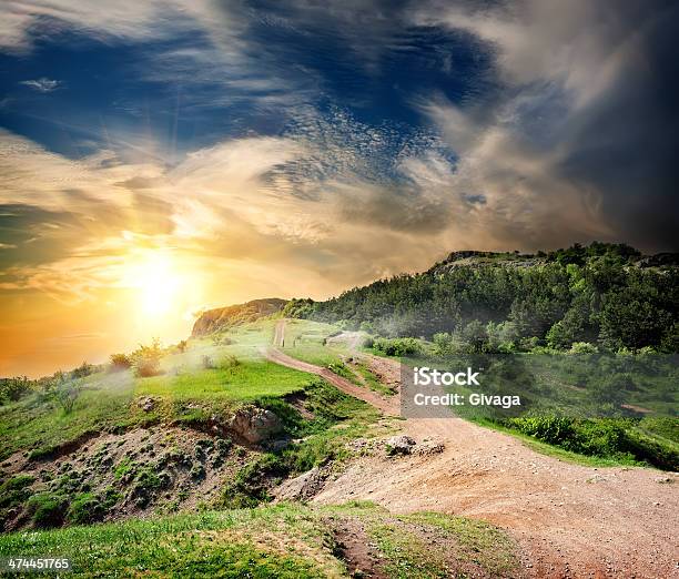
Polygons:
[[[83,390],[71,413],[64,413],[41,394],[0,406],[0,460],[18,450],[40,458],[87,433],[133,428],[153,421],[189,420],[186,407],[195,403],[205,414],[229,412],[262,396],[281,397],[302,389],[310,376],[267,362],[261,348],[271,342],[273,322],[257,322],[236,328],[231,345],[210,339],[191,343],[188,352],[170,354],[162,360],[165,374],[134,378],[130,370],[98,373],[85,378]],[[235,339],[239,343],[235,343]],[[209,356],[212,369],[202,366]],[[236,365],[230,364],[233,357]],[[156,407],[142,412],[134,400],[142,396],[159,399]]]

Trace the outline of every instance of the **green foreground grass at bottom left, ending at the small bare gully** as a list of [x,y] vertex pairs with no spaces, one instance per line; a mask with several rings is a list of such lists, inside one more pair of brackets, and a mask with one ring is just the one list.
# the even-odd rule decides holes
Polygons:
[[73,577],[337,577],[327,531],[291,506],[0,537],[0,556],[70,558]]

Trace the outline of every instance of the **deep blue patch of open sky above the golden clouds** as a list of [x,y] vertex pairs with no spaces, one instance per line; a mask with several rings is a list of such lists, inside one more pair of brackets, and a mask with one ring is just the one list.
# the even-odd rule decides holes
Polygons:
[[393,26],[377,45],[347,38],[321,10],[297,24],[281,3],[261,4],[237,54],[224,55],[197,21],[130,39],[67,23],[34,33],[30,48],[0,54],[0,123],[69,158],[152,138],[172,163],[224,139],[288,134],[305,108],[341,110],[404,144],[436,134],[419,106],[432,95],[462,104],[498,90],[490,51],[464,31]]

